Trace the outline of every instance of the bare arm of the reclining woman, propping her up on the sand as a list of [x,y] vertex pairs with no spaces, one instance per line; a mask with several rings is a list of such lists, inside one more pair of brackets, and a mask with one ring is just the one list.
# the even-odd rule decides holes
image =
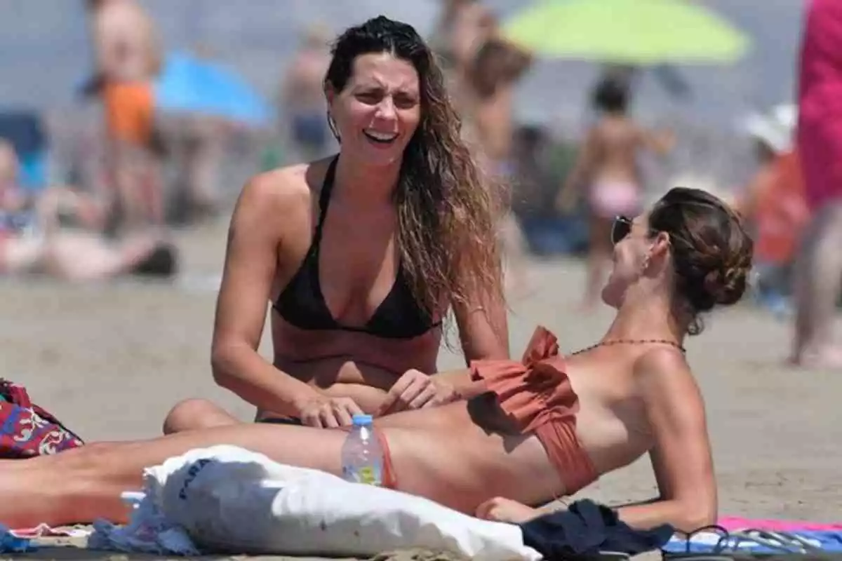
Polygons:
[[635,376],[655,445],[649,456],[659,500],[618,509],[632,527],[668,523],[684,532],[713,524],[717,484],[707,436],[705,406],[684,357],[663,349],[637,360]]

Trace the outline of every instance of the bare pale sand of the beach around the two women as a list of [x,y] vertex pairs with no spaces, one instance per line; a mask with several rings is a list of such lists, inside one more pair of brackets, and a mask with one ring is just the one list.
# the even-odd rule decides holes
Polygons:
[[[217,400],[248,419],[251,407],[216,388],[210,376],[225,233],[224,220],[178,233],[184,270],[175,283],[3,281],[3,376],[26,384],[36,402],[88,441],[157,436],[167,410],[187,397]],[[611,310],[574,311],[584,282],[581,263],[535,262],[534,279],[528,294],[510,300],[515,356],[538,324],[555,331],[567,351],[605,330]],[[706,324],[687,348],[706,396],[721,514],[842,519],[842,424],[833,413],[842,372],[786,368],[790,325],[749,304],[712,315]],[[261,352],[269,357],[266,332]],[[459,366],[461,357],[445,349],[440,368]],[[654,490],[644,458],[578,496],[615,504],[650,498]],[[40,558],[92,554],[48,549]],[[108,557],[114,556],[101,558]]]

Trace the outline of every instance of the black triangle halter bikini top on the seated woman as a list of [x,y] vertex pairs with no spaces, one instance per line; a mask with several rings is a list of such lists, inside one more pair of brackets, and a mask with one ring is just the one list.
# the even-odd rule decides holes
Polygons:
[[324,219],[328,214],[330,193],[336,176],[336,162],[337,158],[330,162],[328,172],[324,176],[322,193],[318,201],[318,222],[310,249],[301,267],[290,279],[278,299],[274,301],[272,307],[291,325],[306,330],[360,331],[386,339],[411,339],[424,335],[427,331],[441,325],[441,321],[432,320],[415,301],[400,264],[392,290],[365,325],[361,327],[342,325],[333,319],[333,315],[328,310],[318,277],[318,248],[322,242]]

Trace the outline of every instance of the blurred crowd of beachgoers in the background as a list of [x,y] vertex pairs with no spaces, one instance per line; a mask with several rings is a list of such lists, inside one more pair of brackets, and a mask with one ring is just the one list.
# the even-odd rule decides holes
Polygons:
[[[164,49],[150,14],[136,0],[88,0],[86,9],[95,71],[83,92],[99,104],[104,118],[96,181],[21,188],[19,173],[26,162],[12,143],[0,145],[0,271],[68,279],[131,272],[171,276],[178,255],[168,241],[168,225],[221,212],[221,161],[237,125],[204,114],[162,118],[154,83]],[[839,40],[825,22],[840,16],[833,0],[814,0],[809,10],[799,103],[781,103],[745,121],[743,133],[756,145],[756,170],[747,185],[730,193],[757,238],[757,301],[781,317],[797,315],[796,362],[804,349],[825,345],[818,339],[829,340],[828,310],[834,309],[829,303],[838,298],[842,277],[842,266],[830,257],[839,254],[831,248],[840,223],[840,180],[834,176],[839,158],[831,153],[836,125],[823,121],[834,111],[829,92],[836,78],[829,69],[840,65],[820,60],[833,56],[826,47]],[[817,13],[828,15],[822,19]],[[335,148],[338,138],[324,101],[329,41],[329,30],[320,24],[302,33],[300,48],[279,80],[274,129],[254,135],[264,142],[264,168],[309,161]],[[630,110],[634,92],[628,69],[607,67],[592,93],[593,124],[578,143],[564,180],[547,188],[552,174],[539,154],[552,144],[552,135],[514,118],[515,90],[534,56],[505,39],[497,16],[480,0],[443,0],[429,42],[442,61],[463,135],[477,161],[490,177],[512,188],[501,229],[510,283],[529,284],[525,256],[530,245],[518,218],[519,202],[540,199],[536,193],[549,190],[555,214],[584,219],[588,276],[583,305],[593,306],[611,258],[612,220],[633,216],[644,206],[647,178],[640,156],[645,151],[669,155],[678,141],[676,132],[638,124]],[[169,176],[164,172],[168,166],[175,169]],[[835,351],[813,354],[820,362],[842,362]]]

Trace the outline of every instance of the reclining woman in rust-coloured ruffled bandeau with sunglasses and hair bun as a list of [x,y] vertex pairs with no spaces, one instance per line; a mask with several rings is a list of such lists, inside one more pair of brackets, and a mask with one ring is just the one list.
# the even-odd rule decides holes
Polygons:
[[[393,488],[494,516],[502,504],[495,497],[538,505],[649,453],[660,496],[622,507],[621,519],[685,531],[714,521],[704,405],[682,345],[700,331],[701,312],[741,298],[752,241],[722,201],[683,188],[648,214],[616,220],[613,238],[614,268],[602,298],[617,314],[605,336],[564,357],[555,337],[539,328],[522,362],[480,360],[445,374],[463,400],[377,419]],[[340,474],[345,435],[307,426],[221,426],[0,462],[0,523],[124,521],[120,493],[141,486],[144,467],[221,443]]]

